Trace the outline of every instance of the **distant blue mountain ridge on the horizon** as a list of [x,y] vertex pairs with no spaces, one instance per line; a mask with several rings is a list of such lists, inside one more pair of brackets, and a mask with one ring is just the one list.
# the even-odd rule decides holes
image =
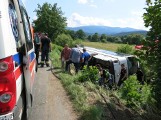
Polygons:
[[87,34],[106,34],[106,35],[121,35],[121,34],[129,34],[129,33],[146,33],[147,31],[141,29],[134,28],[121,28],[121,27],[108,27],[108,26],[80,26],[80,27],[67,27],[68,30],[78,31],[83,30]]

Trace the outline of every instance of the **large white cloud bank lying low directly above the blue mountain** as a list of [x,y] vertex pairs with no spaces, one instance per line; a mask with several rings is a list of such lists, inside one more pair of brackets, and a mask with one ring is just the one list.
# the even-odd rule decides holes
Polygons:
[[[142,17],[136,16],[129,18],[96,18],[90,16],[81,16],[78,13],[73,13],[67,20],[68,27],[88,26],[88,25],[100,25],[111,27],[131,27],[136,29],[146,29]],[[147,29],[146,29],[147,30]]]

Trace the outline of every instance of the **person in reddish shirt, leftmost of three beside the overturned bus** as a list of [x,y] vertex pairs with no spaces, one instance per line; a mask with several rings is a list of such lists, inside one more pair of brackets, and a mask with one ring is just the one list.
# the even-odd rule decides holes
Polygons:
[[[69,61],[70,53],[71,53],[71,48],[69,48],[68,44],[65,44],[60,56],[63,69],[64,69],[64,64],[66,65],[66,62]],[[67,71],[67,67],[65,67],[65,70]]]

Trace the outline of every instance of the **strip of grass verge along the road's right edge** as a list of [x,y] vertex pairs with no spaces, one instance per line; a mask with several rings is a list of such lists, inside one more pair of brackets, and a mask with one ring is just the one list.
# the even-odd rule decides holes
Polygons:
[[80,82],[77,75],[70,75],[61,69],[60,63],[60,48],[52,45],[53,51],[50,53],[50,58],[54,66],[54,74],[60,78],[62,85],[66,89],[74,109],[77,111],[80,120],[100,120],[103,113],[103,107],[98,103],[101,102],[100,91],[98,85],[92,82]]

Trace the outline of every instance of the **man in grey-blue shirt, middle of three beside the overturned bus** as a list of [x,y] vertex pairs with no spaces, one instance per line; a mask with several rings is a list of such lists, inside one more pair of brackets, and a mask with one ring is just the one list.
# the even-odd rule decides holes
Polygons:
[[78,45],[75,45],[75,47],[71,49],[69,61],[67,61],[66,63],[66,70],[69,71],[68,69],[69,65],[73,63],[75,67],[75,72],[78,73],[80,69],[80,57],[81,57],[81,52],[78,49]]

